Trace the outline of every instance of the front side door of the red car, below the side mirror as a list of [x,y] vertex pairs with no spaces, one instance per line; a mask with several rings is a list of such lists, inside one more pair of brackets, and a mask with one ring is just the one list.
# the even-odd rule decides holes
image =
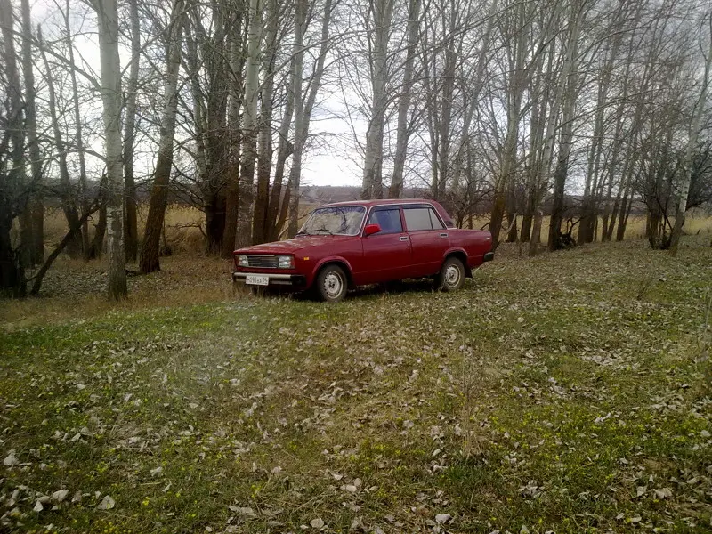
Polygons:
[[361,272],[357,274],[358,283],[375,284],[405,278],[411,253],[408,233],[403,231],[401,208],[376,206],[366,224],[378,224],[381,231],[361,239],[363,260]]

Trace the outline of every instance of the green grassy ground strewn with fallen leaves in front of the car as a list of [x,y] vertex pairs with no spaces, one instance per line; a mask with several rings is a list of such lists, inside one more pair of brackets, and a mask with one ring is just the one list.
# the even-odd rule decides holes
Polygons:
[[189,304],[175,259],[93,317],[15,309],[0,530],[712,531],[707,245],[505,245],[334,306]]

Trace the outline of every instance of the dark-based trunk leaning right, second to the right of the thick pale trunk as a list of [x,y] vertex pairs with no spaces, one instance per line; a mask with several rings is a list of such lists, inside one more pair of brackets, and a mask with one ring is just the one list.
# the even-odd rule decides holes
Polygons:
[[146,231],[143,234],[141,260],[142,273],[160,270],[160,236],[166,215],[168,183],[173,169],[173,145],[175,134],[175,115],[178,105],[178,73],[181,68],[183,0],[175,0],[166,42],[166,77],[164,82],[164,111],[161,118],[161,137],[158,142],[158,161],[151,188],[149,215],[146,218]]

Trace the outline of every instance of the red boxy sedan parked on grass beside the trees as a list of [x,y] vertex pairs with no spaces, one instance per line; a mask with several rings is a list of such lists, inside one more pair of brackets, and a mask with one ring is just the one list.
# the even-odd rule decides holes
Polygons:
[[408,278],[462,287],[494,257],[489,231],[454,228],[433,200],[340,202],[315,209],[294,239],[234,253],[232,279],[250,287],[312,289],[338,302],[346,291]]

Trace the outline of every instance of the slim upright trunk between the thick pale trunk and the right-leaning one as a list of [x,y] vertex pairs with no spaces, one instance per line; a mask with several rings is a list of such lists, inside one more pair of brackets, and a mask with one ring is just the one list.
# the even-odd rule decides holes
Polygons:
[[[68,4],[69,4],[69,0]],[[131,21],[131,69],[126,89],[124,125],[124,185],[125,185],[125,247],[126,261],[135,262],[138,254],[138,221],[136,217],[136,185],[134,181],[134,135],[136,127],[136,92],[139,85],[141,61],[141,23],[138,0],[129,0]]]

